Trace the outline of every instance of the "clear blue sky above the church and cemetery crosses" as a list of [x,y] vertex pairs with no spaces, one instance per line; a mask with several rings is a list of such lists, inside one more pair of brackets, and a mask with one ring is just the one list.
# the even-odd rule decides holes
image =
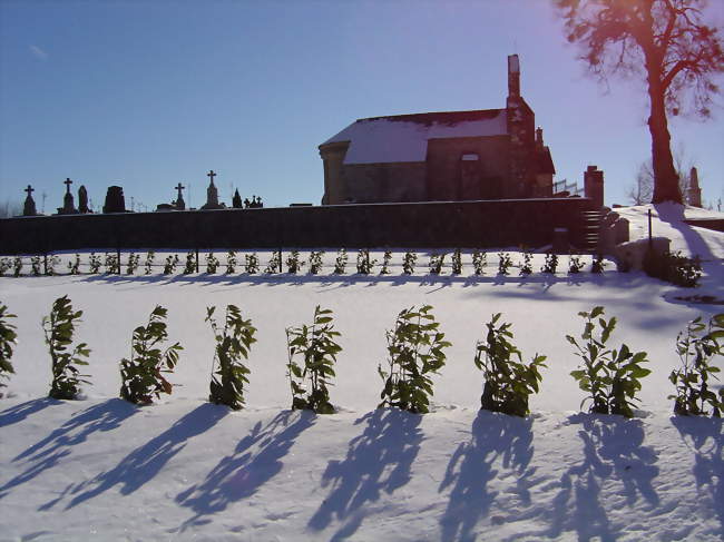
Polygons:
[[[595,164],[625,204],[650,152],[643,83],[588,77],[544,0],[3,0],[0,203],[31,184],[50,213],[70,177],[96,208],[118,184],[151,209],[179,181],[197,207],[214,169],[226,203],[319,204],[321,142],[358,118],[505,107],[512,52],[556,178]],[[671,126],[715,205],[723,116]]]

